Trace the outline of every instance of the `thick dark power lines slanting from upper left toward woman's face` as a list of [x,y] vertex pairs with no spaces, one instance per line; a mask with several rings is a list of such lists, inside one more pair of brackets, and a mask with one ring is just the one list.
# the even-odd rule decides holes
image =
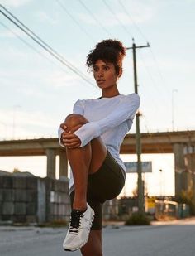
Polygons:
[[[59,53],[55,50],[53,50],[48,44],[45,43],[45,41],[43,41],[42,39],[40,39],[39,36],[36,36],[36,34],[31,31],[28,27],[26,27],[22,22],[20,22],[17,17],[15,17],[14,15],[12,15],[11,12],[9,12],[7,10],[7,8],[3,7],[2,4],[0,4],[0,7],[2,7],[6,12],[8,12],[12,17],[14,17],[17,22],[19,22],[21,24],[21,26],[25,27],[21,27],[20,25],[17,24],[17,22],[13,21],[11,17],[8,17],[7,14],[5,12],[2,12],[2,10],[0,10],[0,12],[2,13],[2,15],[4,17],[7,17],[7,19],[12,22],[14,25],[16,25],[19,29],[21,29],[21,31],[25,32],[27,36],[30,36],[31,39],[33,41],[36,41],[36,43],[41,46],[45,51],[49,52],[51,56],[55,57],[55,59],[59,60],[63,65],[66,65],[70,70],[72,70],[76,75],[80,76],[83,80],[85,80],[86,82],[88,82],[88,84],[93,85],[93,82],[91,82],[90,80],[88,80],[88,78],[83,75],[83,73],[78,70],[76,67],[74,67],[74,65],[72,65],[71,63],[69,63],[68,60],[65,60],[63,56],[60,56]],[[27,30],[27,31],[26,31]],[[30,33],[29,33],[30,32]],[[31,36],[31,34],[33,36]],[[36,37],[36,38],[35,38]],[[93,87],[95,87],[95,85],[93,85]],[[96,88],[96,87],[95,87]]]

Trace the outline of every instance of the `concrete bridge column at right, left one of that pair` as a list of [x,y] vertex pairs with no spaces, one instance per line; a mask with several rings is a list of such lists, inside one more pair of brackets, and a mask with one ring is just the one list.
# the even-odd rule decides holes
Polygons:
[[174,143],[174,177],[175,177],[175,196],[178,196],[182,190],[186,190],[188,186],[188,173],[185,167],[184,144]]

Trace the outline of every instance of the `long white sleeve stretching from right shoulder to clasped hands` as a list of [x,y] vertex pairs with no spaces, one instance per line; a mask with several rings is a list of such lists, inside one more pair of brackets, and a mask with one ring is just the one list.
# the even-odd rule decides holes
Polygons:
[[86,123],[74,132],[81,141],[80,147],[88,144],[93,138],[98,138],[110,128],[117,127],[128,119],[133,120],[139,107],[140,97],[138,94],[130,94],[122,98],[120,103],[117,104],[116,108],[107,117],[95,122]]

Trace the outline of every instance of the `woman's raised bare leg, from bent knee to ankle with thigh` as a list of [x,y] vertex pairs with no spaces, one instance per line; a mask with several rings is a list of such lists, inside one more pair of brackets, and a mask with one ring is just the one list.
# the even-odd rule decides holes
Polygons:
[[[70,114],[65,125],[68,130],[88,123],[88,120],[78,114]],[[107,155],[107,148],[101,138],[95,138],[84,147],[66,148],[67,157],[74,176],[74,204],[73,208],[85,210],[87,207],[88,174],[98,171]]]

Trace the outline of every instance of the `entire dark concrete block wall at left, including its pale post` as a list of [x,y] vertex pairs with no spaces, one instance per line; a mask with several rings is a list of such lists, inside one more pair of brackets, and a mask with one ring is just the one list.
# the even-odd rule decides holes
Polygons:
[[69,181],[0,176],[0,221],[44,223],[69,218]]

